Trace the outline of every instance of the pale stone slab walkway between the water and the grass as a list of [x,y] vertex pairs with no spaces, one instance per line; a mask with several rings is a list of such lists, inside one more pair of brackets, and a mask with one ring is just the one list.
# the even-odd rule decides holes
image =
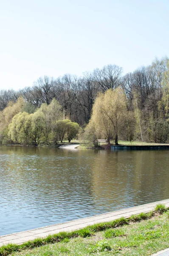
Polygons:
[[24,241],[32,241],[36,238],[43,238],[48,235],[53,235],[61,231],[73,231],[79,230],[88,225],[93,225],[99,222],[113,221],[121,217],[130,217],[134,214],[139,214],[141,212],[149,212],[154,209],[157,204],[165,204],[169,207],[169,199],[162,200],[150,204],[143,204],[136,207],[130,207],[127,209],[117,210],[113,212],[107,212],[105,214],[95,215],[87,218],[82,218],[74,221],[68,221],[61,224],[54,224],[46,227],[40,227],[33,230],[26,230],[14,234],[9,234],[5,236],[0,236],[0,246],[4,244],[22,244]]

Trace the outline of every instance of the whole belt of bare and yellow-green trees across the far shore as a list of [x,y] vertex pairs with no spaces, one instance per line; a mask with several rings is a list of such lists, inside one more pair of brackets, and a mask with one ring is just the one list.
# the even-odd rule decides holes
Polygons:
[[[12,87],[12,85],[11,85]],[[169,139],[169,59],[123,75],[107,65],[57,79],[40,77],[32,87],[0,91],[0,143],[57,144],[97,139]]]

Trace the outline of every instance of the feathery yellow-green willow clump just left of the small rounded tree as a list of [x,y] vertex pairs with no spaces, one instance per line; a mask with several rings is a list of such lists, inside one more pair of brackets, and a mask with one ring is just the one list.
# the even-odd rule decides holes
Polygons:
[[8,125],[8,139],[14,143],[34,144],[54,138],[56,121],[62,118],[62,109],[56,99],[45,103],[34,113],[17,113]]

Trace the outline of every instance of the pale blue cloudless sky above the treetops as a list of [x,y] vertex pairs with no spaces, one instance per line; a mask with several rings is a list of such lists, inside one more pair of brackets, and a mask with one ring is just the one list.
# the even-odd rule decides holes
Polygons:
[[0,0],[0,89],[169,56],[169,0]]

